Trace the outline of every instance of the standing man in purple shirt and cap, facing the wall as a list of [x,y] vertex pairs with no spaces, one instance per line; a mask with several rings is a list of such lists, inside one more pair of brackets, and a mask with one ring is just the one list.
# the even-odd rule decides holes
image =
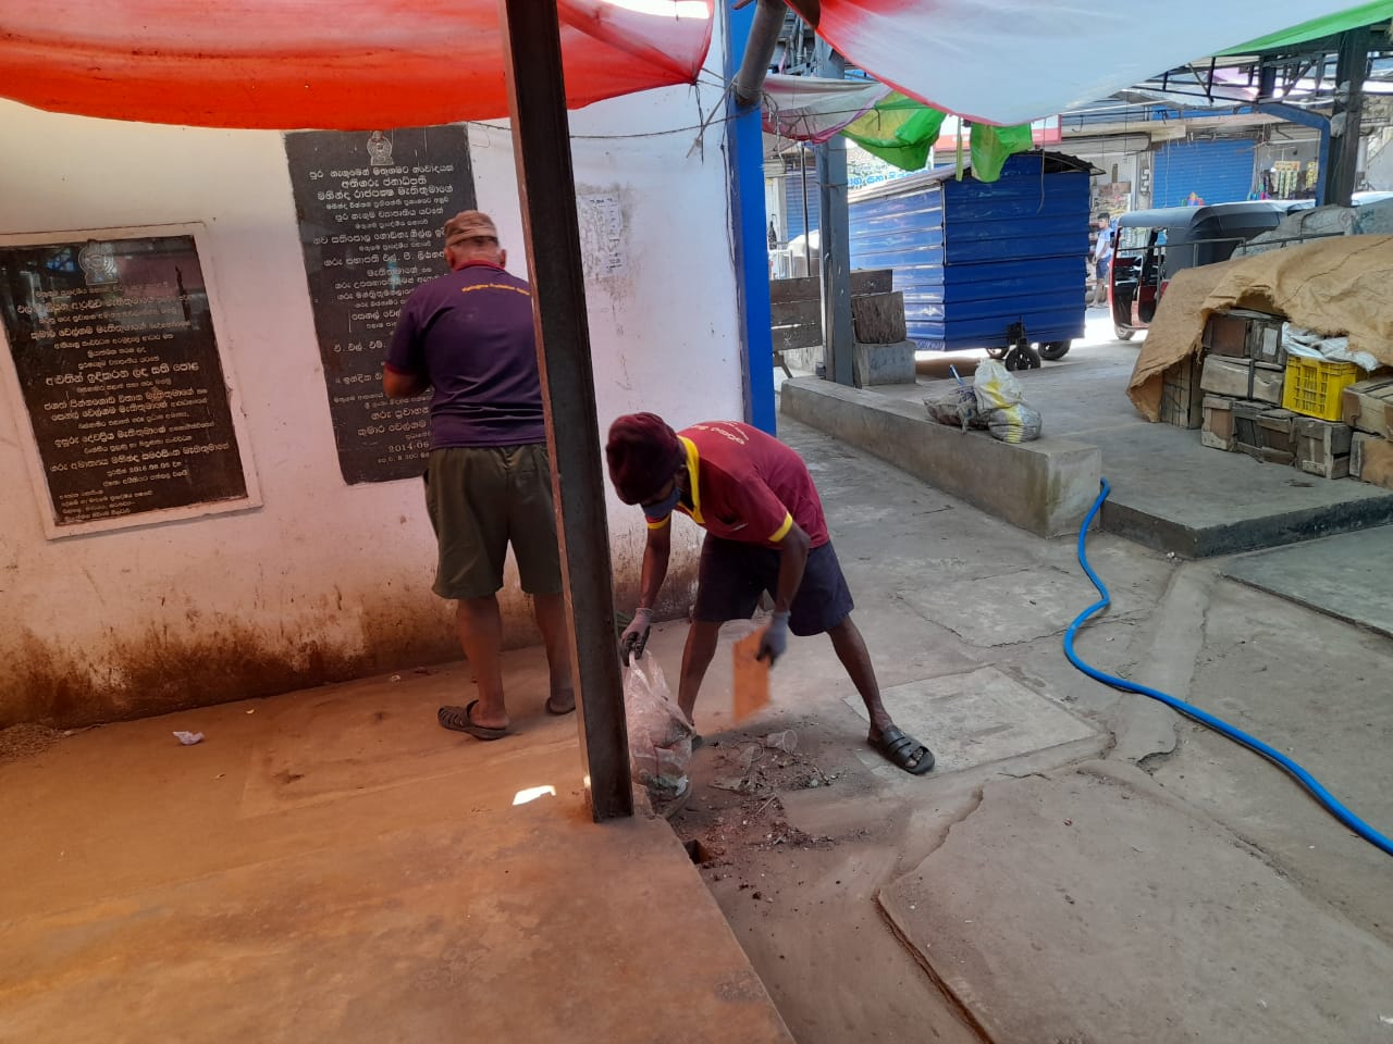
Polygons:
[[450,274],[417,287],[401,309],[382,388],[389,398],[433,390],[425,479],[440,547],[435,593],[457,600],[460,643],[479,689],[467,707],[440,707],[440,724],[501,739],[508,713],[497,592],[510,543],[546,643],[546,709],[575,710],[532,288],[504,269],[497,228],[478,210],[446,221],[444,259]]

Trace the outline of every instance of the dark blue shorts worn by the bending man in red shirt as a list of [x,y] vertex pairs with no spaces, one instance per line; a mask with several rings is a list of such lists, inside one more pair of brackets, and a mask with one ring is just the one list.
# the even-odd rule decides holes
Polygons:
[[[780,553],[770,547],[708,535],[701,548],[695,619],[703,624],[749,619],[759,594],[773,596],[779,587],[779,558]],[[832,544],[814,547],[790,606],[788,629],[795,635],[820,635],[846,619],[853,608],[837,553]]]

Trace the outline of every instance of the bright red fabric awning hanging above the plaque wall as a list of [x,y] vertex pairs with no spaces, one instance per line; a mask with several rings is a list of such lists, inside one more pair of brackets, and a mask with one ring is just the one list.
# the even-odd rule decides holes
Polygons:
[[[690,84],[712,0],[560,0],[567,103]],[[195,127],[507,114],[496,0],[0,0],[0,95]]]

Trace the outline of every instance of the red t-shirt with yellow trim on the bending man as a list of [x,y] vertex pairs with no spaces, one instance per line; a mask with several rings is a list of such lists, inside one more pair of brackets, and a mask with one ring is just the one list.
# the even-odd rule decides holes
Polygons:
[[[687,450],[688,476],[677,509],[708,533],[777,547],[797,522],[812,547],[830,540],[808,465],[777,438],[737,420],[706,420],[677,437]],[[648,525],[660,529],[669,518]]]

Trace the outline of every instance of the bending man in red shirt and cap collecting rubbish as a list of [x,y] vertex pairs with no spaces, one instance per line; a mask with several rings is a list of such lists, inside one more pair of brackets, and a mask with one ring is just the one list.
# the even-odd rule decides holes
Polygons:
[[648,518],[641,601],[620,639],[625,664],[648,642],[652,607],[667,576],[671,515],[681,511],[706,530],[677,689],[683,711],[692,714],[720,625],[748,619],[769,592],[775,612],[759,658],[772,665],[787,649],[790,631],[826,633],[865,700],[871,746],[915,775],[933,767],[933,752],[896,728],[880,702],[822,501],[798,454],[736,420],[708,420],[677,433],[655,413],[631,413],[610,426],[605,455],[620,500],[639,504]]

